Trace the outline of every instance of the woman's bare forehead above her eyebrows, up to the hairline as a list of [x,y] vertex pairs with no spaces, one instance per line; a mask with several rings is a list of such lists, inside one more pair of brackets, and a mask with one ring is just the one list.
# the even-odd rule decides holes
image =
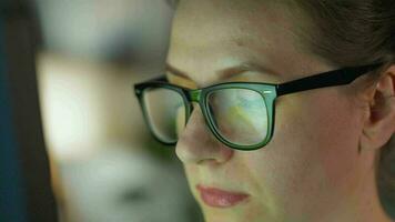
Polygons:
[[181,0],[168,63],[202,84],[215,81],[216,70],[245,62],[276,73],[297,64],[307,72],[313,58],[297,43],[296,24],[275,1]]

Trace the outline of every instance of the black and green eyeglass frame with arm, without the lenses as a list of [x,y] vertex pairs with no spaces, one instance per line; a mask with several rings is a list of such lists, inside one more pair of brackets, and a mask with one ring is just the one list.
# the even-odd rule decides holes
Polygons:
[[[175,145],[178,141],[172,141],[172,142],[162,141],[159,137],[155,135],[153,128],[150,124],[150,121],[148,119],[149,117],[148,117],[146,108],[143,100],[143,94],[146,89],[152,89],[152,88],[164,88],[164,89],[173,90],[178,92],[180,95],[182,95],[185,103],[185,117],[186,117],[185,124],[193,110],[192,102],[196,102],[199,103],[202,110],[206,125],[219,141],[221,141],[223,144],[227,145],[231,149],[252,151],[265,147],[273,138],[276,98],[285,94],[291,94],[291,93],[302,92],[302,91],[307,91],[313,89],[350,84],[358,77],[378,69],[382,64],[383,63],[375,63],[375,64],[361,65],[361,67],[343,68],[343,69],[313,74],[306,78],[301,78],[297,80],[293,80],[280,84],[273,84],[266,82],[225,82],[225,83],[219,83],[202,89],[186,89],[183,87],[179,87],[169,83],[166,81],[166,78],[162,75],[153,80],[134,84],[134,92],[139,99],[144,115],[144,120],[149,125],[151,133],[159,142],[166,145]],[[223,89],[247,89],[247,90],[253,90],[262,95],[267,109],[266,113],[267,113],[269,122],[267,122],[266,137],[263,138],[260,143],[252,144],[252,145],[234,144],[227,141],[226,139],[224,139],[219,133],[219,131],[215,128],[213,117],[211,117],[209,112],[207,95],[213,91],[223,90]]]

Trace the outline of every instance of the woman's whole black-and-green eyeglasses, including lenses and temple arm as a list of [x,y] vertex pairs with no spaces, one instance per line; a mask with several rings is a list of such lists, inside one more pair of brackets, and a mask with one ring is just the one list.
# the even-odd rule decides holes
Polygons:
[[151,133],[164,144],[174,145],[199,103],[214,137],[229,148],[256,150],[273,138],[275,100],[284,94],[350,84],[381,64],[352,67],[294,81],[226,82],[203,89],[171,84],[165,77],[134,85]]

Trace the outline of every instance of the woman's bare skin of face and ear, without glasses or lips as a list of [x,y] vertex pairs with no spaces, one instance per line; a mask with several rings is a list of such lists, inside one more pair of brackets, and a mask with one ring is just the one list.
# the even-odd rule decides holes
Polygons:
[[[291,31],[294,21],[275,3],[183,0],[174,18],[168,78],[202,88],[225,81],[277,83],[337,69],[304,49]],[[176,154],[205,221],[389,221],[377,198],[375,159],[394,133],[395,102],[385,103],[385,112],[374,104],[378,93],[394,94],[394,70],[389,67],[368,88],[362,78],[346,87],[278,98],[274,137],[256,151],[220,143],[196,105]],[[237,71],[243,72],[233,75]],[[365,90],[355,93],[358,88]],[[250,199],[212,208],[201,200],[198,184],[244,192]]]

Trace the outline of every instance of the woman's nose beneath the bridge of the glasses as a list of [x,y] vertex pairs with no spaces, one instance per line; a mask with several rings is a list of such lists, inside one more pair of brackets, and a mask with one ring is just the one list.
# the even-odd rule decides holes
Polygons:
[[233,157],[234,150],[225,147],[210,132],[196,105],[179,138],[175,152],[184,164],[221,164]]

